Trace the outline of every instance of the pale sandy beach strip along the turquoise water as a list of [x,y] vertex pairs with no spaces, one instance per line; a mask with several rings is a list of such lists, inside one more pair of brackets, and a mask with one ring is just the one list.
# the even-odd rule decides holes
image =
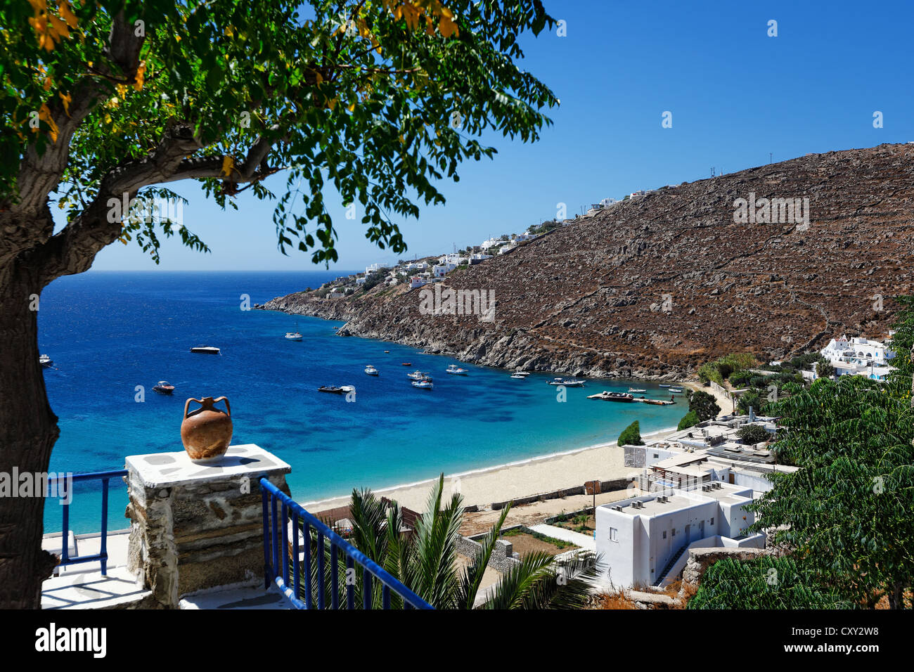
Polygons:
[[[664,438],[676,431],[674,427],[649,432],[642,439]],[[505,464],[468,469],[444,475],[443,496],[461,493],[463,506],[488,507],[493,502],[537,496],[555,490],[583,485],[585,481],[599,478],[609,481],[641,473],[636,467],[625,466],[622,452],[616,450],[617,442],[595,443],[568,451],[537,455]],[[412,483],[390,485],[374,489],[377,496],[394,499],[400,506],[423,512],[432,484],[437,478],[426,478]],[[297,500],[296,500],[297,501]],[[350,496],[326,497],[300,502],[309,511],[345,507]]]

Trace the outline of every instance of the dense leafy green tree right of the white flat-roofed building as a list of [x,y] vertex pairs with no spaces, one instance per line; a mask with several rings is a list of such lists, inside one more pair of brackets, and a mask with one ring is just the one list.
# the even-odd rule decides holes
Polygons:
[[[772,489],[751,505],[750,532],[775,528],[774,540],[792,552],[798,586],[780,602],[767,584],[749,581],[753,568],[708,571],[697,606],[732,598],[739,607],[910,606],[914,579],[914,418],[911,347],[914,297],[901,310],[892,346],[897,370],[887,382],[863,376],[816,379],[785,388],[773,404],[781,416],[774,447],[781,461],[801,467],[770,476]],[[719,563],[718,563],[719,564]],[[712,568],[715,569],[715,568]],[[777,569],[777,567],[775,567]],[[779,570],[780,572],[780,570]],[[805,587],[806,591],[800,587]],[[698,600],[696,595],[696,600]],[[766,602],[770,601],[770,602]]]

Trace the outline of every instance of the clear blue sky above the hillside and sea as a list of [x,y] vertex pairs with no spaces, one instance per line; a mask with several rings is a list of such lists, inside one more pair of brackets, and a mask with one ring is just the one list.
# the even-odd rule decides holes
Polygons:
[[[441,190],[447,204],[401,221],[402,257],[478,244],[552,219],[603,197],[702,179],[808,152],[914,140],[911,27],[914,3],[590,2],[546,0],[567,22],[524,40],[522,67],[556,91],[561,105],[537,144],[489,138],[493,161],[464,164],[461,181]],[[768,37],[768,22],[778,37]],[[662,128],[662,113],[673,127]],[[873,112],[884,127],[873,127]],[[280,189],[284,180],[271,184]],[[193,183],[185,223],[212,252],[163,246],[164,270],[312,270],[310,255],[283,257],[272,204],[244,195],[220,210]],[[55,208],[56,209],[56,208]],[[356,269],[396,261],[364,229],[331,210],[340,261]],[[135,245],[115,243],[94,269],[152,270]],[[317,268],[323,268],[317,267]]]

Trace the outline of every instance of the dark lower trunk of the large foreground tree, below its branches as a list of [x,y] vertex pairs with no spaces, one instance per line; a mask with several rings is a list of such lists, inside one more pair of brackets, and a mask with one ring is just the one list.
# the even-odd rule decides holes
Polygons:
[[[41,283],[21,255],[0,266],[0,474],[48,471],[58,437],[38,363]],[[18,493],[17,483],[10,484]],[[6,493],[4,493],[6,494]],[[0,609],[37,609],[41,582],[57,564],[41,550],[44,493],[0,496]]]

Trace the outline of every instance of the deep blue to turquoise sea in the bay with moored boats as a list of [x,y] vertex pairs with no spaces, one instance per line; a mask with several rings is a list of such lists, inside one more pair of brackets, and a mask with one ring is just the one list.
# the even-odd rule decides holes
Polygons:
[[[60,426],[51,470],[121,469],[129,454],[183,450],[179,430],[190,397],[228,397],[232,443],[257,443],[292,464],[289,485],[302,502],[614,441],[633,420],[646,433],[685,414],[685,400],[586,399],[601,389],[625,391],[630,381],[567,389],[560,403],[545,374],[516,380],[501,369],[463,365],[468,376],[449,376],[444,369],[458,363],[451,357],[341,338],[338,322],[241,309],[242,294],[262,304],[341,274],[88,272],[49,285],[38,342],[54,360],[44,373]],[[296,323],[302,342],[283,338]],[[220,347],[222,355],[192,354],[197,345]],[[367,364],[380,376],[367,376]],[[409,385],[406,374],[416,368],[432,374],[432,391]],[[161,379],[175,385],[173,396],[153,391]],[[356,401],[318,392],[321,385],[354,385]],[[637,387],[667,398],[654,383]],[[128,527],[125,505],[124,486],[112,482],[111,529]],[[46,531],[61,528],[60,508],[48,500]],[[97,530],[100,510],[97,490],[78,486],[71,528]]]

